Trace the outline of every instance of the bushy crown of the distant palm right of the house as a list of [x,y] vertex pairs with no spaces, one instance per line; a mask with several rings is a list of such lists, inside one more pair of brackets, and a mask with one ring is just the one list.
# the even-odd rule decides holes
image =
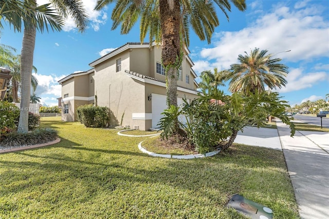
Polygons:
[[262,92],[265,90],[265,85],[269,89],[281,88],[285,86],[287,81],[285,77],[288,74],[288,67],[280,64],[280,58],[272,58],[272,54],[266,54],[267,50],[255,48],[248,54],[245,52],[237,58],[240,63],[231,65],[231,73],[229,78],[230,92],[237,91],[243,94],[249,92]]

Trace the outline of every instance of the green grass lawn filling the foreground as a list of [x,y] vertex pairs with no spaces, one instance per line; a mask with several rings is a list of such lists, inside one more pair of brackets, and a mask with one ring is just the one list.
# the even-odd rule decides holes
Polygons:
[[273,218],[299,218],[281,151],[235,144],[208,158],[157,158],[138,150],[145,137],[59,119],[41,126],[60,143],[0,154],[0,218],[246,218],[225,207],[235,193]]

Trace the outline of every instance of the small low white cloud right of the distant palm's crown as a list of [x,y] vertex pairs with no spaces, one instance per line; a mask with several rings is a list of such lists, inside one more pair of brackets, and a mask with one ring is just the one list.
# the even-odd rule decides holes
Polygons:
[[303,73],[302,68],[295,68],[290,70],[287,76],[287,85],[278,89],[280,93],[292,92],[294,90],[301,90],[309,87],[313,87],[316,83],[320,83],[327,80],[329,75],[326,72],[310,72],[307,74]]

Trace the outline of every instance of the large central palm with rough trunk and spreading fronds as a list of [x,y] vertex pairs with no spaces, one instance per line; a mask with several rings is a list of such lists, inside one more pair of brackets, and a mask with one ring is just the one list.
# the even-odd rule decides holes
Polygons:
[[[227,0],[99,0],[95,10],[101,10],[116,2],[112,12],[113,26],[121,24],[121,34],[128,33],[140,17],[140,41],[147,33],[150,44],[161,42],[162,64],[166,68],[167,102],[177,106],[177,69],[184,56],[183,47],[189,46],[189,30],[194,30],[200,40],[210,43],[215,27],[220,25],[215,4],[228,19],[226,10],[231,11]],[[245,0],[230,0],[240,11],[246,9]]]

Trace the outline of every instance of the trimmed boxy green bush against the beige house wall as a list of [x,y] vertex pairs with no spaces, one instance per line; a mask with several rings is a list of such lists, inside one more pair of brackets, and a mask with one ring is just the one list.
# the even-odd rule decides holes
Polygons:
[[105,127],[109,124],[109,109],[106,106],[92,104],[77,108],[78,120],[86,127]]

